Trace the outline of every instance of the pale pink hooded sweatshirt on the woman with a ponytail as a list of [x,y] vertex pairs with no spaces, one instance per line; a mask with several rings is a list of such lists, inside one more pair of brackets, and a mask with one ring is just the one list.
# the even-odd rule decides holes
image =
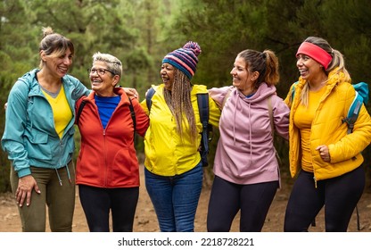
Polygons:
[[[213,87],[210,97],[221,105],[230,88]],[[218,177],[243,185],[280,181],[268,96],[275,133],[288,139],[290,109],[276,96],[276,87],[262,83],[249,98],[232,87],[219,121],[220,137],[214,159],[214,174]]]

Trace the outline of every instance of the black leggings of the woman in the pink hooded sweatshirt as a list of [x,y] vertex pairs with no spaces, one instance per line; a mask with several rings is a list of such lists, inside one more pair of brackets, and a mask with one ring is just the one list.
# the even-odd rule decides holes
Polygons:
[[241,209],[240,231],[259,232],[276,195],[278,180],[239,185],[215,176],[211,187],[207,229],[227,232]]

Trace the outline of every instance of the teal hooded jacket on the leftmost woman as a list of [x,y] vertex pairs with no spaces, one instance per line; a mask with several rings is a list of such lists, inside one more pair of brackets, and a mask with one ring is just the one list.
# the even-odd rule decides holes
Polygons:
[[5,112],[1,145],[20,178],[31,174],[29,166],[59,169],[72,160],[75,102],[89,93],[78,79],[70,75],[62,78],[73,116],[60,138],[55,131],[52,107],[37,82],[37,71],[29,71],[15,82]]

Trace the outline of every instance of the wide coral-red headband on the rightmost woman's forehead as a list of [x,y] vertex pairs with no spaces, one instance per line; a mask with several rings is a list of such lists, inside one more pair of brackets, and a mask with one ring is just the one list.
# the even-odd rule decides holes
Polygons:
[[331,63],[333,57],[326,52],[323,48],[316,46],[312,43],[303,42],[296,53],[298,54],[306,54],[316,60],[319,64],[324,66],[325,70],[327,70],[328,64]]

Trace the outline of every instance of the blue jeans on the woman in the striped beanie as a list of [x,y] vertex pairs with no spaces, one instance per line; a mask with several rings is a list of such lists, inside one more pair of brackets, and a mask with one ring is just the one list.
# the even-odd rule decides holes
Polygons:
[[159,176],[144,168],[145,187],[151,197],[161,232],[193,232],[202,189],[202,163],[176,176]]

